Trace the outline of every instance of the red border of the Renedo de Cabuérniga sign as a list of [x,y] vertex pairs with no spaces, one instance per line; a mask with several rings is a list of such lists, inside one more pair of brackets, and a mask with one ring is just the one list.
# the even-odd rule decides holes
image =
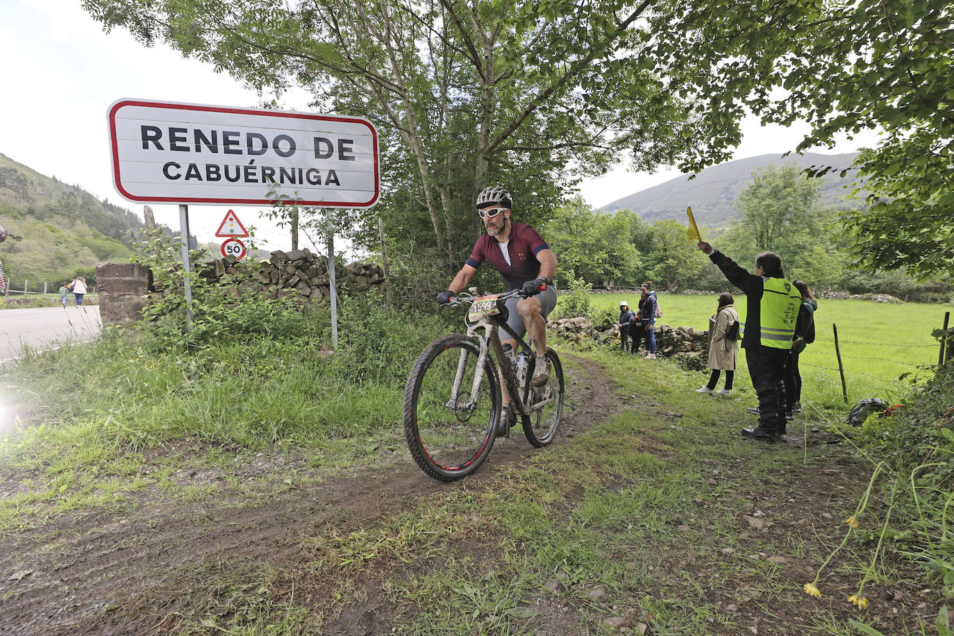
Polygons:
[[181,196],[136,196],[131,195],[123,188],[119,178],[119,142],[116,139],[115,114],[124,106],[147,106],[152,108],[165,108],[176,111],[204,111],[207,113],[246,113],[255,114],[264,117],[290,117],[293,119],[320,119],[321,121],[343,121],[348,123],[357,123],[367,126],[371,131],[371,139],[374,144],[374,196],[369,201],[363,203],[354,203],[352,201],[295,201],[296,205],[314,205],[335,208],[369,208],[374,205],[381,195],[381,173],[378,166],[378,131],[371,122],[361,117],[346,117],[342,115],[315,114],[315,113],[291,113],[289,111],[263,111],[260,109],[235,108],[231,106],[208,106],[203,104],[179,104],[174,102],[155,102],[143,99],[121,99],[110,107],[110,146],[113,153],[113,183],[120,195],[131,201],[141,201],[143,203],[232,203],[243,205],[274,205],[275,202],[267,198],[184,198]]

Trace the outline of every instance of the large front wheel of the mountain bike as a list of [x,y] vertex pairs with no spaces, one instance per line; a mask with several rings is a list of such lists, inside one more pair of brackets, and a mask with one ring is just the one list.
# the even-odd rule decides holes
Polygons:
[[493,446],[500,382],[489,356],[478,368],[479,355],[477,341],[467,336],[436,339],[404,387],[407,447],[426,474],[445,482],[467,477]]

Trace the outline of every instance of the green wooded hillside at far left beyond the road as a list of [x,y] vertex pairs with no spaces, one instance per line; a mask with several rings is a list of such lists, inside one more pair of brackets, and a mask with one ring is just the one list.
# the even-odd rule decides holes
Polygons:
[[42,289],[87,274],[97,262],[127,261],[139,218],[78,186],[39,174],[0,154],[0,225],[10,236],[0,259],[13,288]]

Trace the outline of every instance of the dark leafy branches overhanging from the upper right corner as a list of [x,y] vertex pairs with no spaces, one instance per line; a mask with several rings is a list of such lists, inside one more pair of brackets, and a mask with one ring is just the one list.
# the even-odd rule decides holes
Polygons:
[[[690,79],[696,108],[807,120],[798,151],[883,131],[861,154],[868,210],[846,215],[853,250],[876,268],[954,272],[954,6],[948,0],[735,0],[657,14],[653,57]],[[700,65],[699,59],[710,62]],[[700,149],[684,163],[709,162]],[[811,174],[829,168],[818,166]]]

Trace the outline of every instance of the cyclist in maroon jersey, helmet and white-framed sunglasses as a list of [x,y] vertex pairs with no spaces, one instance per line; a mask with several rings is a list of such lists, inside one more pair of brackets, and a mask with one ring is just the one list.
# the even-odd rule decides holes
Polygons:
[[[477,273],[477,268],[485,260],[493,265],[507,283],[508,290],[522,290],[527,297],[512,297],[507,300],[507,324],[518,336],[529,332],[529,339],[536,352],[533,386],[543,386],[550,380],[547,365],[547,316],[556,307],[556,287],[553,275],[556,273],[557,258],[550,245],[540,234],[526,223],[514,223],[510,220],[510,195],[500,186],[489,186],[477,195],[477,214],[484,220],[487,234],[482,235],[474,244],[474,249],[457,276],[450,281],[446,291],[437,295],[437,301],[445,304],[455,294],[467,287],[467,283]],[[540,287],[546,284],[546,289]],[[507,334],[502,334],[507,336]],[[514,339],[501,339],[509,344],[511,351],[517,350]],[[504,398],[503,421],[509,424],[515,414],[509,412],[510,396],[507,383],[501,381]]]

